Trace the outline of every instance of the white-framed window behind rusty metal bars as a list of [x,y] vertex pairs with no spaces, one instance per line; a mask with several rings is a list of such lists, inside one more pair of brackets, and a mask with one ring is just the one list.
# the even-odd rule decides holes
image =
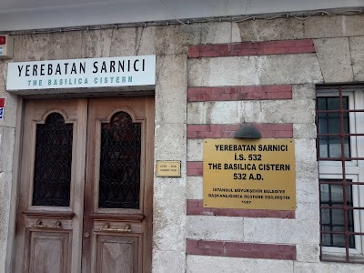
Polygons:
[[321,260],[364,262],[364,86],[319,86]]

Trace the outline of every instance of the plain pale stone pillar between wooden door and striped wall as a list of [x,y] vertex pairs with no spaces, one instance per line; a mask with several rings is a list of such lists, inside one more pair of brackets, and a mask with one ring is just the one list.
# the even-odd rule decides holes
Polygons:
[[153,272],[186,270],[186,96],[187,56],[158,56],[155,160],[180,160],[182,177],[154,179]]

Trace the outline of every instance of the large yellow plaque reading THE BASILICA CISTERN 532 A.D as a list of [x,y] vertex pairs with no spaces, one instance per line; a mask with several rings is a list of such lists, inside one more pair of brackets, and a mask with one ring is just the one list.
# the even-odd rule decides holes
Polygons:
[[206,139],[204,207],[296,209],[291,138]]

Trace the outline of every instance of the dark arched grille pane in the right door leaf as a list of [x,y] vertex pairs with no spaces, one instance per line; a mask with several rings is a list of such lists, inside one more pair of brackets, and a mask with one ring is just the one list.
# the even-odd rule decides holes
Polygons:
[[101,127],[98,207],[139,208],[141,125],[118,112]]

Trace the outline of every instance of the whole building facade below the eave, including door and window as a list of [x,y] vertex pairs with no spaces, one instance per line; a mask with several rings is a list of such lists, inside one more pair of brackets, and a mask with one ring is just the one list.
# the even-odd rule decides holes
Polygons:
[[[14,58],[0,61],[1,272],[364,270],[364,15],[12,36]],[[156,56],[155,85],[42,90],[31,82],[21,92],[8,90],[11,63],[121,56]],[[130,134],[119,136],[129,132],[117,131],[121,124],[132,127]],[[47,125],[68,136],[42,150],[52,140]],[[67,125],[71,133],[58,131]],[[263,143],[292,141],[294,207],[230,207],[220,196],[220,207],[204,204],[204,142],[230,143],[242,125],[257,128]],[[103,144],[130,138],[139,139],[140,165],[133,165],[138,175],[124,175],[138,177],[138,189],[115,194],[100,181],[112,172],[110,158],[130,158]],[[42,175],[48,163],[64,167],[60,157],[69,160],[70,182],[52,194],[39,183],[66,176]],[[169,161],[180,162],[180,175],[158,174],[158,162]],[[279,190],[274,185],[285,175],[269,189]],[[241,187],[258,188],[257,180]],[[225,182],[217,181],[229,189]],[[66,205],[55,205],[59,191],[68,194]],[[280,193],[273,196],[285,197]],[[109,205],[113,194],[134,194],[136,207]]]

